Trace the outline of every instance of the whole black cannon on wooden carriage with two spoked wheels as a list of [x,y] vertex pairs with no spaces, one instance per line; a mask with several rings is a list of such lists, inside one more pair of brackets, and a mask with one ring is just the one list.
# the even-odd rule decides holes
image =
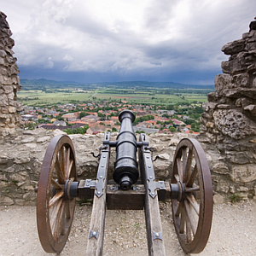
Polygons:
[[[73,143],[67,135],[54,137],[46,150],[38,182],[38,236],[44,251],[60,253],[71,230],[76,198],[92,199],[85,255],[102,255],[108,210],[143,210],[148,255],[166,255],[159,201],[172,201],[178,241],[185,253],[201,253],[212,225],[213,191],[207,157],[194,138],[183,138],[172,162],[171,183],[156,181],[146,134],[139,141],[132,128],[135,114],[119,113],[116,141],[105,132],[96,179],[78,180]],[[110,148],[116,148],[113,180],[108,180]],[[138,159],[138,161],[137,161]]]

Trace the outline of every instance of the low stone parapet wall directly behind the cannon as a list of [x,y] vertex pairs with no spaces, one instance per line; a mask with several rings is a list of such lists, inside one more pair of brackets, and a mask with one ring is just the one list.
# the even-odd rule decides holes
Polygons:
[[[37,194],[34,188],[38,186],[44,154],[50,140],[63,131],[46,131],[43,128],[23,131],[19,136],[0,137],[0,205],[35,205]],[[118,133],[113,132],[111,140],[115,141]],[[155,177],[158,180],[170,181],[172,160],[177,143],[188,135],[177,133],[152,134],[148,136],[150,147],[155,148],[154,156],[159,159],[154,162]],[[191,135],[190,135],[191,136]],[[98,159],[91,151],[98,154],[102,146],[103,134],[70,135],[77,159],[79,180],[85,178],[96,179]],[[138,140],[138,136],[137,136]],[[109,179],[113,174],[115,148],[111,148],[109,163]],[[217,160],[214,154],[207,154],[210,166]]]

